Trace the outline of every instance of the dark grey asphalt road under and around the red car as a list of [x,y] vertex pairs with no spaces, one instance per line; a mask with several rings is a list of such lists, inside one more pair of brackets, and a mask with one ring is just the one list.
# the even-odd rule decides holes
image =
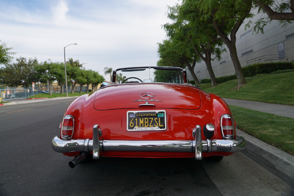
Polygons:
[[51,139],[73,98],[0,107],[0,196],[292,196],[282,179],[235,153],[220,163],[102,157],[68,166]]

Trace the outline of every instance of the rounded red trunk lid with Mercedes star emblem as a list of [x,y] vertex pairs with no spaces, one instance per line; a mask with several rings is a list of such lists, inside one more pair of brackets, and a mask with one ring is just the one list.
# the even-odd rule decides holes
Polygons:
[[[154,106],[153,106],[154,105]],[[120,84],[97,91],[97,110],[172,108],[196,110],[201,107],[199,89],[182,84]]]

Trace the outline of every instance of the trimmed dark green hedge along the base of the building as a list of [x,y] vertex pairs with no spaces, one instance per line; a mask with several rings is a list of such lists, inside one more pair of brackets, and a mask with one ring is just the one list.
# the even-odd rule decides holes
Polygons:
[[[256,63],[242,68],[245,77],[252,77],[256,74],[278,73],[281,70],[294,70],[294,62],[277,62],[277,63]],[[288,72],[288,71],[287,71]],[[236,74],[218,77],[217,83],[237,79]],[[202,79],[201,83],[211,83],[211,79]]]

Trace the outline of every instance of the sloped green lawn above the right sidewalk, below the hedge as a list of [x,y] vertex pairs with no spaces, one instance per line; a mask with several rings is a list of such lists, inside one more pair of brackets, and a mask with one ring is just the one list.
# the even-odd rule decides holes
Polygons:
[[235,89],[237,80],[231,80],[211,87],[201,84],[201,89],[222,98],[234,98],[265,103],[294,105],[294,72],[265,74],[246,78],[246,84]]

